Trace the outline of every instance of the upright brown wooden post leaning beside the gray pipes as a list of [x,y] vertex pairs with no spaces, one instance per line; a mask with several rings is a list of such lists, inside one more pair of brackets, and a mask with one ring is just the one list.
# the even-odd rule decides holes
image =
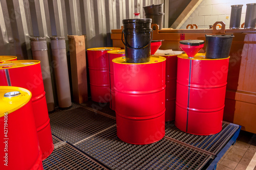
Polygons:
[[68,38],[73,100],[81,104],[88,101],[85,36],[69,35]]

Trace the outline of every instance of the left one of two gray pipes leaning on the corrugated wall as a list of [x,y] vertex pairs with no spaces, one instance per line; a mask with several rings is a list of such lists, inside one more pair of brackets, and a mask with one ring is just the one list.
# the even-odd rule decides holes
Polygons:
[[31,51],[34,60],[39,60],[42,71],[42,80],[44,81],[44,87],[46,91],[46,102],[48,112],[55,109],[53,90],[52,90],[52,80],[51,71],[49,66],[47,43],[45,37],[32,37],[30,38]]

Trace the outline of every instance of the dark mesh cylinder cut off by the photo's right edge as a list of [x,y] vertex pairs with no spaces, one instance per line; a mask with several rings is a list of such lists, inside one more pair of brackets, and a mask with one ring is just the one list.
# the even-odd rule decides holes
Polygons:
[[245,29],[253,29],[256,24],[256,3],[246,4],[246,13],[245,13]]

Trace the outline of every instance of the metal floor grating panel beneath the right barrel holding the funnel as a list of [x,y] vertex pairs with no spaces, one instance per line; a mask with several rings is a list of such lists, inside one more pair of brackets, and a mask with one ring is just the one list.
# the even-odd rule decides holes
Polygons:
[[202,136],[182,132],[175,126],[174,121],[170,121],[165,123],[165,136],[217,154],[238,129],[239,125],[223,122],[221,132]]

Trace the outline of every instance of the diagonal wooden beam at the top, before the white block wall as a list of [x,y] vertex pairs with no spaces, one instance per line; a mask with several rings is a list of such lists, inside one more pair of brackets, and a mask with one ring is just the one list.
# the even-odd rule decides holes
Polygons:
[[182,11],[179,17],[174,21],[170,28],[179,29],[187,18],[195,11],[195,9],[201,4],[203,0],[192,0],[187,7]]

